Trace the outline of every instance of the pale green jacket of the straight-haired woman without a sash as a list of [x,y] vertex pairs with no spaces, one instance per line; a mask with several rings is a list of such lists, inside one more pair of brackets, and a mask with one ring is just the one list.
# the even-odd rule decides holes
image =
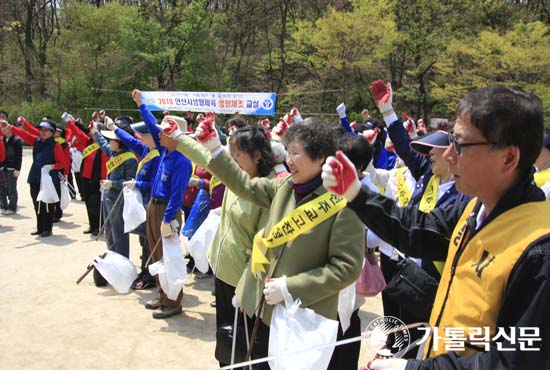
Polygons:
[[[206,167],[211,159],[210,152],[189,137],[180,139],[178,150],[201,167]],[[208,261],[218,279],[237,286],[248,264],[254,235],[265,226],[268,214],[267,209],[226,189],[221,223],[208,249]]]

